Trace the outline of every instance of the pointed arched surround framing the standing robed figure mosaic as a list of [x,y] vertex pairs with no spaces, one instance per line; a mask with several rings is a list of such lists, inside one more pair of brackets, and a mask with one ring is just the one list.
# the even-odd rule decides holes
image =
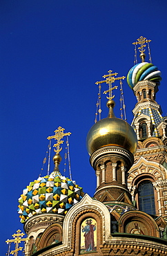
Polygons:
[[81,254],[82,226],[86,226],[86,220],[88,219],[92,219],[92,225],[96,226],[97,232],[96,251],[91,252],[92,256],[101,252],[100,245],[110,236],[110,213],[108,208],[86,194],[79,203],[70,209],[63,222],[63,244],[64,246],[68,245],[75,256]]

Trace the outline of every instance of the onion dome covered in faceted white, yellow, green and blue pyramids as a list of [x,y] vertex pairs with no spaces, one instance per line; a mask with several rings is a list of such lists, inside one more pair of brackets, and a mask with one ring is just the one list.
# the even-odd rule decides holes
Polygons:
[[59,172],[39,177],[30,182],[19,198],[18,213],[21,223],[25,223],[27,219],[37,214],[65,215],[83,195],[82,188],[76,185],[75,181],[61,176]]

